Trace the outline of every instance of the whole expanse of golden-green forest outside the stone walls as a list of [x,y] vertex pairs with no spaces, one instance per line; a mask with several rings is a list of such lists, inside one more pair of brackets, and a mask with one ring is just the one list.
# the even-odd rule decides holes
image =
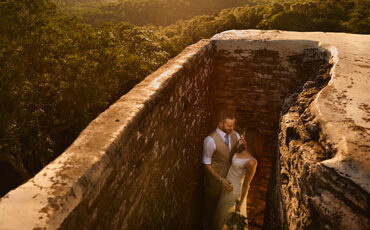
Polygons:
[[[250,28],[370,31],[368,0],[85,3],[81,15],[95,18],[91,25],[83,23],[89,17],[65,14],[78,1],[0,1],[0,196],[34,176],[111,103],[199,39]],[[198,15],[206,13],[212,14]]]

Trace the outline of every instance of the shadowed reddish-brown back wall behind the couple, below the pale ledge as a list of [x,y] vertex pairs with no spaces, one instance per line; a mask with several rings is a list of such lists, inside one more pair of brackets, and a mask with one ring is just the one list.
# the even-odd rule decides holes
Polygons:
[[264,137],[260,168],[248,194],[248,217],[253,224],[250,229],[263,225],[284,99],[315,76],[328,59],[325,49],[313,41],[225,40],[216,43],[213,107],[227,105],[237,114],[238,128],[258,130]]

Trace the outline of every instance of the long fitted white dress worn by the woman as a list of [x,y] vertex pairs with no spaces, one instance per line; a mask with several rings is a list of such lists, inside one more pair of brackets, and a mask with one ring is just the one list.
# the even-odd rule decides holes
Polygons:
[[[215,211],[214,229],[224,229],[228,214],[235,210],[235,200],[240,201],[245,177],[244,164],[250,159],[253,159],[253,157],[238,158],[237,154],[234,154],[230,169],[226,176],[226,179],[231,182],[233,190],[229,192],[223,188],[221,191]],[[247,195],[248,191],[240,206],[240,214],[244,216],[247,216]]]

